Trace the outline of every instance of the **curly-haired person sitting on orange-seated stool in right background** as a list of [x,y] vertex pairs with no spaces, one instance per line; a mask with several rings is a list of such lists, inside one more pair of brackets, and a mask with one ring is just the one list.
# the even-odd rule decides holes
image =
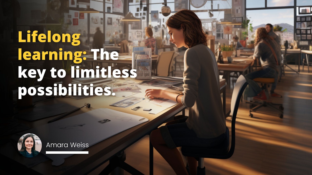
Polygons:
[[[253,81],[255,78],[274,78],[274,83],[272,84],[271,87],[271,95],[277,94],[274,92],[277,84],[277,79],[278,79],[278,57],[276,56],[277,50],[276,50],[276,42],[271,39],[271,37],[266,33],[266,29],[264,27],[260,27],[256,30],[255,33],[255,52],[254,52],[254,57],[253,59],[258,60],[260,59],[261,62],[261,69],[258,71],[254,71],[251,73],[248,73],[245,78],[246,81],[248,82],[249,87],[249,92],[248,96],[252,97],[254,95],[255,99],[259,100],[266,100],[266,93],[263,88],[261,88],[258,83]],[[273,52],[270,48],[273,49]],[[275,58],[275,56],[276,58]],[[253,90],[253,91],[252,91]],[[254,94],[254,95],[251,95]],[[278,94],[277,94],[278,95]]]

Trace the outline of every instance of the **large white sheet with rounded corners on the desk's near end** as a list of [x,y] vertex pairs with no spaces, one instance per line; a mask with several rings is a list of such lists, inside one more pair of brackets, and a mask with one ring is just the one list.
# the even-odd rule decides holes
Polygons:
[[[38,133],[41,142],[45,143],[40,154],[52,160],[60,160],[72,154],[46,154],[46,151],[82,151],[87,147],[71,144],[84,143],[90,147],[146,121],[149,120],[141,116],[100,108],[17,133],[11,139],[17,143],[25,133]],[[47,143],[67,143],[68,147],[50,147]]]

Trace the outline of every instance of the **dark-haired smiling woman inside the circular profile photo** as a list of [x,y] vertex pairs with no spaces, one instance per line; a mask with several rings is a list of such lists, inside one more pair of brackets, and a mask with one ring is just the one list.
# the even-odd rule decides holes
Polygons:
[[25,135],[19,152],[25,157],[35,157],[39,154],[39,151],[36,151],[35,139],[31,134]]

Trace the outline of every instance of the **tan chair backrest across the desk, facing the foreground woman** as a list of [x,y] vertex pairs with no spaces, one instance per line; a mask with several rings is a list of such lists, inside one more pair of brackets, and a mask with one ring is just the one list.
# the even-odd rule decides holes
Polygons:
[[170,66],[172,66],[173,55],[175,51],[160,52],[156,63],[156,74],[158,76],[168,76],[170,73]]

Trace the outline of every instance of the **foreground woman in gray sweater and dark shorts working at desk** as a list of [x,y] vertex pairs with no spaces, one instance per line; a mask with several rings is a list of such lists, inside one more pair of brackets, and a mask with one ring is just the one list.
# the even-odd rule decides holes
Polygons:
[[[166,22],[170,42],[188,48],[184,54],[183,93],[147,89],[146,97],[167,98],[190,107],[189,117],[168,122],[150,134],[154,148],[176,174],[188,175],[177,147],[213,147],[225,138],[225,117],[220,97],[220,80],[215,55],[207,47],[206,34],[197,15],[181,10]],[[197,161],[188,157],[191,174],[196,174]]]

